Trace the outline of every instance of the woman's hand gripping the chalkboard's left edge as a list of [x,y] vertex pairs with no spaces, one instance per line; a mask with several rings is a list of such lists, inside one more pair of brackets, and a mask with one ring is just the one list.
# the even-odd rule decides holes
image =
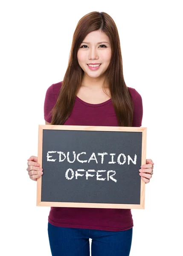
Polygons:
[[31,156],[27,159],[27,172],[31,180],[37,181],[38,178],[43,175],[43,169],[40,168],[40,164],[38,163],[38,157]]

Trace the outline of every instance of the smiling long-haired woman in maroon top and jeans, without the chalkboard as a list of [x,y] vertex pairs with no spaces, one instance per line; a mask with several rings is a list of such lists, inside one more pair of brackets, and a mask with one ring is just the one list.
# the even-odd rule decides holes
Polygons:
[[[123,78],[119,34],[105,12],[91,12],[79,20],[62,82],[46,91],[44,118],[52,125],[134,126],[142,124],[142,98]],[[38,159],[28,159],[28,174],[43,174]],[[151,159],[139,175],[148,183]],[[131,209],[51,207],[49,243],[53,256],[128,256],[133,219]]]

